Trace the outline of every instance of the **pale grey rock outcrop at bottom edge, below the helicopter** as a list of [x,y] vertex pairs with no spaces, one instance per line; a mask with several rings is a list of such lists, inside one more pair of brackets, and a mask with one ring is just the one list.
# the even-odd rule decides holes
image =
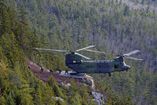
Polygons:
[[94,92],[94,91],[92,92],[92,97],[93,97],[93,100],[96,101],[98,105],[103,105],[104,98],[106,98],[104,94]]

